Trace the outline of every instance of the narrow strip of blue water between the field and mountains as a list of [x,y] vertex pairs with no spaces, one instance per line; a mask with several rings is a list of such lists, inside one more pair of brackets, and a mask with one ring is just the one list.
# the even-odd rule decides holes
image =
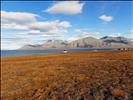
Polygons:
[[[66,49],[68,52],[80,52],[80,51],[93,51],[93,50],[112,50],[110,48],[78,48],[78,49]],[[53,54],[62,53],[63,50],[1,50],[1,56],[21,56],[21,55],[36,55],[36,54]]]

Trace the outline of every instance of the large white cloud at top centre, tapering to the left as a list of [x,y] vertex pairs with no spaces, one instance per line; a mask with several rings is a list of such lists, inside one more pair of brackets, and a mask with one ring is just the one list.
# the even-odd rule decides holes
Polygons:
[[78,14],[82,12],[83,3],[79,1],[60,1],[54,4],[52,7],[48,8],[44,12],[51,14]]

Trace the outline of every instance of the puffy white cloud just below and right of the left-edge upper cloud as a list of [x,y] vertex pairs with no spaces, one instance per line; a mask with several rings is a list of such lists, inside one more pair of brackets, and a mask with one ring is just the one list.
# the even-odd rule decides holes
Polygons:
[[30,30],[39,30],[44,34],[63,34],[67,32],[67,28],[71,27],[71,23],[67,21],[46,21],[36,22],[30,24],[28,27]]

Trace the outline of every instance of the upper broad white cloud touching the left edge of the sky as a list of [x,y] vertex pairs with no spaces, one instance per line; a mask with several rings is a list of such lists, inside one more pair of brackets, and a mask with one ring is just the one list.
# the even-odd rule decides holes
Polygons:
[[1,11],[1,28],[6,30],[27,30],[27,25],[37,22],[37,14],[27,12]]

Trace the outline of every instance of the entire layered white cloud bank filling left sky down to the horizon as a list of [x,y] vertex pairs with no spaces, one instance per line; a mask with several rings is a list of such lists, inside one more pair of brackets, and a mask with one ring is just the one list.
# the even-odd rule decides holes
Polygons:
[[46,39],[64,39],[72,26],[68,21],[38,21],[38,15],[26,12],[1,11],[1,15],[2,49],[17,49],[29,41],[35,44]]

